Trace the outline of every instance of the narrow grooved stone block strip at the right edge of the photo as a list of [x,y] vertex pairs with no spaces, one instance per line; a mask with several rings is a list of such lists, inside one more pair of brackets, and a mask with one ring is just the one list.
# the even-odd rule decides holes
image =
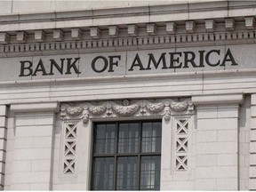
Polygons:
[[256,190],[256,94],[251,101],[249,190]]

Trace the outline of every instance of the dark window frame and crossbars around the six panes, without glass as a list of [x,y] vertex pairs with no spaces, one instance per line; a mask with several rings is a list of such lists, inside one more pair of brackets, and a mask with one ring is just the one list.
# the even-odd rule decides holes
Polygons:
[[[118,133],[119,133],[119,124],[132,124],[132,123],[139,123],[139,151],[137,153],[120,153],[118,154]],[[157,152],[141,152],[141,139],[142,139],[142,123],[160,123],[161,124],[161,142],[160,142],[160,150]],[[113,154],[95,154],[95,147],[96,147],[96,135],[95,135],[95,127],[97,124],[115,124],[116,130],[115,130],[115,152]],[[92,158],[91,158],[91,179],[90,179],[90,190],[98,190],[93,189],[93,173],[95,168],[95,158],[96,157],[114,157],[114,189],[111,190],[118,190],[116,189],[116,181],[117,181],[117,158],[120,156],[136,156],[137,157],[137,179],[136,179],[136,189],[134,190],[140,190],[140,162],[141,162],[141,156],[159,156],[160,158],[160,169],[159,169],[159,180],[161,180],[161,150],[162,150],[162,132],[163,132],[163,121],[162,119],[147,119],[147,120],[125,120],[125,121],[99,121],[99,122],[92,122]],[[158,189],[148,189],[148,190],[160,190],[160,181],[159,181],[159,188]],[[106,189],[105,189],[106,190]],[[120,189],[121,190],[121,189]],[[125,190],[125,189],[123,189]],[[129,190],[129,189],[126,189]],[[142,189],[147,190],[147,189]]]

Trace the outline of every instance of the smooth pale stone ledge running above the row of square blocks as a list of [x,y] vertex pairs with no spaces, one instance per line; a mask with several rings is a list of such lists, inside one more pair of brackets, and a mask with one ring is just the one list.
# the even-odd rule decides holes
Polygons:
[[[131,17],[132,15],[143,15],[150,16],[157,15],[159,13],[166,14],[172,13],[177,15],[177,13],[187,13],[187,17],[184,18],[184,15],[180,17],[184,20],[191,20],[200,17],[196,12],[215,12],[213,15],[214,18],[219,18],[220,15],[216,12],[225,12],[226,17],[230,15],[230,11],[250,9],[256,6],[255,2],[227,2],[227,1],[215,1],[215,2],[180,2],[178,4],[161,4],[161,5],[137,5],[132,7],[113,7],[113,8],[101,8],[101,9],[85,9],[85,10],[71,10],[68,12],[65,11],[54,11],[54,12],[28,12],[28,13],[12,13],[5,14],[1,16],[0,22],[26,22],[26,21],[35,21],[35,20],[70,20],[70,18],[75,19],[97,19],[97,18],[108,18],[108,17]],[[194,13],[190,14],[189,13]],[[246,12],[243,12],[246,15]],[[191,18],[194,16],[194,18]],[[175,17],[177,18],[177,16]],[[170,21],[173,20],[172,17],[169,18]],[[124,20],[122,20],[124,21]],[[120,22],[122,22],[120,20]]]

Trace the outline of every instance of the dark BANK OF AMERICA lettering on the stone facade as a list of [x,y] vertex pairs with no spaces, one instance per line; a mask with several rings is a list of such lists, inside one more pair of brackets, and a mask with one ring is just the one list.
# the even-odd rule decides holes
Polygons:
[[[126,56],[125,56],[126,55]],[[116,55],[98,55],[90,59],[89,54],[81,54],[79,57],[60,58],[60,59],[42,59],[38,62],[33,60],[20,60],[20,77],[22,76],[85,76],[87,71],[95,73],[114,73],[129,72],[135,70],[156,70],[162,72],[173,68],[216,68],[220,66],[238,65],[236,55],[234,56],[230,49],[222,51],[221,49],[200,50],[189,52],[168,52],[163,50],[161,54],[157,52],[136,52],[132,60],[127,61],[127,68],[124,68],[124,60],[127,60],[127,54],[124,52]],[[63,56],[64,57],[64,56]],[[197,63],[196,60],[199,60]],[[215,61],[214,61],[215,60]],[[217,60],[217,61],[216,61]],[[125,65],[126,65],[125,64]],[[137,72],[136,72],[137,71]],[[142,72],[141,72],[142,73]],[[144,73],[145,74],[145,73]],[[130,108],[130,107],[129,107]]]

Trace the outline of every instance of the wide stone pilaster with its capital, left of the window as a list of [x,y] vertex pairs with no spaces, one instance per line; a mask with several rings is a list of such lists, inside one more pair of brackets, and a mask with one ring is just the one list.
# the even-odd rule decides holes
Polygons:
[[15,141],[11,189],[51,190],[57,102],[13,104]]

